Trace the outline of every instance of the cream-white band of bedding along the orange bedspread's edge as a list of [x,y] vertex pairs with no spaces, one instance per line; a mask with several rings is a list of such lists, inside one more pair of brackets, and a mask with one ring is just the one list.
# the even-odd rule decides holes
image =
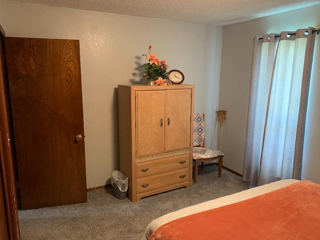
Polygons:
[[205,211],[213,208],[217,208],[220,206],[232,204],[238,201],[243,201],[245,199],[252,198],[254,196],[258,196],[261,194],[264,194],[266,192],[281,188],[286,185],[290,185],[294,182],[297,182],[299,180],[295,179],[284,179],[284,180],[278,180],[275,182],[271,182],[262,186],[257,186],[253,188],[249,188],[247,190],[243,190],[240,192],[233,193],[231,195],[222,196],[213,200],[205,201],[196,205],[184,207],[180,210],[173,211],[170,213],[167,213],[163,216],[160,216],[154,220],[152,220],[147,227],[145,228],[145,231],[143,233],[143,236],[141,240],[148,240],[151,236],[152,232],[155,231],[159,226],[162,224],[172,221],[174,219],[187,216],[193,213],[197,213],[200,211]]

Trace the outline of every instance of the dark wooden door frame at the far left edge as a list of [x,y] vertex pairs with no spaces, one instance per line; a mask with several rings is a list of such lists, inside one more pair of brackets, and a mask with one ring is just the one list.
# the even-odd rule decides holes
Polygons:
[[[0,170],[2,178],[2,195],[5,205],[5,220],[8,231],[8,238],[20,239],[19,220],[17,213],[17,198],[15,192],[15,181],[13,171],[12,151],[10,147],[9,120],[7,113],[6,89],[5,89],[5,59],[4,56],[4,30],[0,25]],[[2,223],[2,222],[1,222]]]

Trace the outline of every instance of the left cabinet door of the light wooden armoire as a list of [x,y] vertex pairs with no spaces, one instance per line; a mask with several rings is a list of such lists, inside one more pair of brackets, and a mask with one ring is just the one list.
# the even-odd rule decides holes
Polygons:
[[136,157],[164,152],[165,94],[136,91]]

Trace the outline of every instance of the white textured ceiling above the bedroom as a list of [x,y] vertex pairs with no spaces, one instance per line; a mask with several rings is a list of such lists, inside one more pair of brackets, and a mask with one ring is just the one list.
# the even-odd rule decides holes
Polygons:
[[320,0],[13,0],[93,11],[225,25],[320,4]]

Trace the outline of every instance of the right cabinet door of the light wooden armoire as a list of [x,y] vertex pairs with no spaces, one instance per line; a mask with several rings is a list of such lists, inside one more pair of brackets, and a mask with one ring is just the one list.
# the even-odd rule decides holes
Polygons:
[[165,151],[190,147],[191,89],[166,91]]

